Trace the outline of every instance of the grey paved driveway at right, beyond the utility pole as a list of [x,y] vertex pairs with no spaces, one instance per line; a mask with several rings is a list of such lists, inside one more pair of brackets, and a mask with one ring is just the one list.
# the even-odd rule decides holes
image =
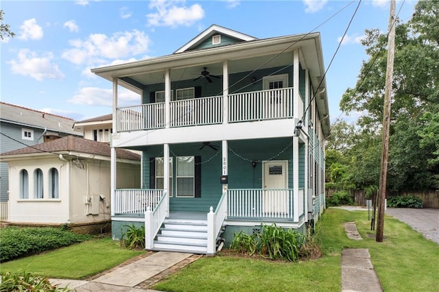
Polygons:
[[439,209],[387,208],[385,214],[406,223],[426,239],[439,244]]

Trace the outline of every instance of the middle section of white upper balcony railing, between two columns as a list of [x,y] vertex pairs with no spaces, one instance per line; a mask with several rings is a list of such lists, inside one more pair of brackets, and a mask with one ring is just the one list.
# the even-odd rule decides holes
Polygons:
[[171,127],[222,123],[222,96],[171,101]]

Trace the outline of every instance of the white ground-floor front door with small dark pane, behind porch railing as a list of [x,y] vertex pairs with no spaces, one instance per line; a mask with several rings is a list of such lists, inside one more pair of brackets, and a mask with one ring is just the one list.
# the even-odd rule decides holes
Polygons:
[[263,212],[287,214],[287,160],[263,162]]

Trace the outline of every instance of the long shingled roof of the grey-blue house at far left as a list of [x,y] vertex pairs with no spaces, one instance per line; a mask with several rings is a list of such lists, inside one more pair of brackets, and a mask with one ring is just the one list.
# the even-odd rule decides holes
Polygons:
[[81,132],[75,132],[73,130],[73,123],[75,123],[73,119],[24,108],[23,106],[6,104],[2,101],[0,101],[0,121],[21,125],[23,127],[46,129],[49,132],[82,136]]

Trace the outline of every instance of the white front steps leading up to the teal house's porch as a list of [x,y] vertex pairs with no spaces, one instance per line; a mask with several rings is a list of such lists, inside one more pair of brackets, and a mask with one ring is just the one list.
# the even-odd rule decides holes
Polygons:
[[207,220],[165,219],[154,250],[207,254]]

